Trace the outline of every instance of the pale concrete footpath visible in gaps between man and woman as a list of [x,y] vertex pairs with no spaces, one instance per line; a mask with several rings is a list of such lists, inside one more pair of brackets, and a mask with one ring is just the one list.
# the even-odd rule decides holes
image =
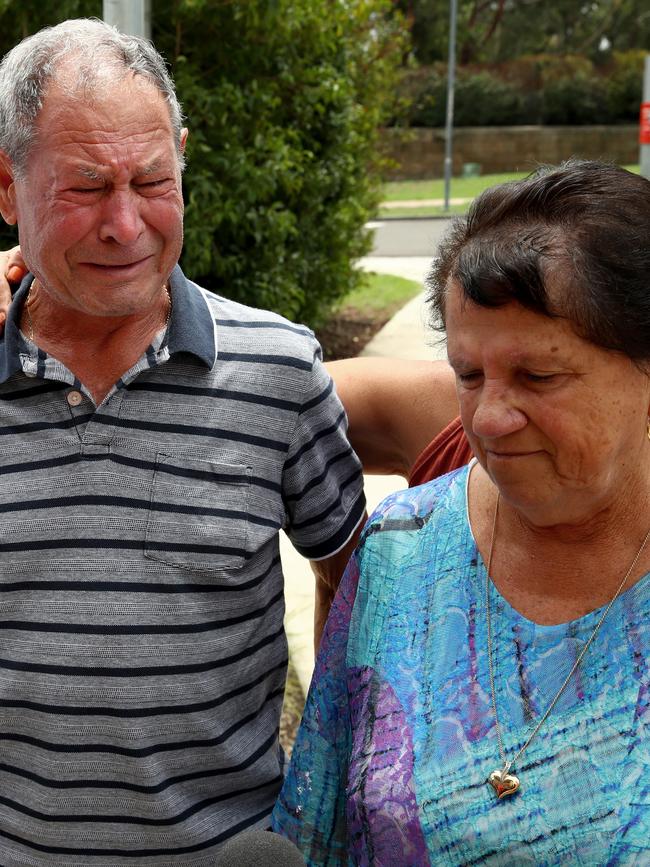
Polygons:
[[[431,257],[368,257],[360,267],[381,274],[394,274],[422,282]],[[405,359],[444,358],[444,346],[426,327],[424,291],[406,304],[367,344],[362,355]],[[401,476],[366,476],[368,511],[388,494],[405,487]],[[288,539],[281,535],[282,565],[285,575],[285,626],[289,653],[305,692],[314,667],[313,620],[314,576],[307,561],[297,554]]]

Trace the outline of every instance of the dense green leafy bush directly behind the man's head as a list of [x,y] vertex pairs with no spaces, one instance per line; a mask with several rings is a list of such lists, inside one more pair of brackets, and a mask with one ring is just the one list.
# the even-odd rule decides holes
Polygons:
[[[24,29],[99,14],[91,0],[0,0]],[[190,129],[186,273],[318,324],[359,282],[406,29],[391,0],[153,0]],[[29,7],[29,14],[21,10]],[[12,29],[13,28],[13,29]],[[22,29],[21,29],[22,28]],[[5,38],[7,37],[7,38]]]

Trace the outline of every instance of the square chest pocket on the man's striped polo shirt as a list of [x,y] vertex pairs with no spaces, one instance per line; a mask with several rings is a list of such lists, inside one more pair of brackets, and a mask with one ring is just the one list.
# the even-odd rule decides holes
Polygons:
[[145,556],[200,572],[239,569],[247,556],[251,468],[159,452]]

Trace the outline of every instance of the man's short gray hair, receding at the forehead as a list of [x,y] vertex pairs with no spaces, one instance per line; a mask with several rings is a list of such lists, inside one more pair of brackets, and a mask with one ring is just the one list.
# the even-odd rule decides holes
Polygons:
[[120,33],[98,19],[78,18],[28,36],[0,63],[0,149],[17,175],[34,144],[47,87],[66,61],[73,62],[75,87],[82,91],[92,91],[107,75],[119,80],[129,72],[153,84],[167,101],[182,168],[183,115],[163,57],[146,39]]

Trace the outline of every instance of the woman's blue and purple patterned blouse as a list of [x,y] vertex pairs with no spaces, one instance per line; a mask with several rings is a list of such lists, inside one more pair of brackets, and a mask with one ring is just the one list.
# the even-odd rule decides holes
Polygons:
[[[310,865],[650,865],[650,575],[614,604],[497,800],[485,566],[465,467],[370,519],[330,615],[274,829]],[[602,609],[557,626],[491,587],[514,756]]]

